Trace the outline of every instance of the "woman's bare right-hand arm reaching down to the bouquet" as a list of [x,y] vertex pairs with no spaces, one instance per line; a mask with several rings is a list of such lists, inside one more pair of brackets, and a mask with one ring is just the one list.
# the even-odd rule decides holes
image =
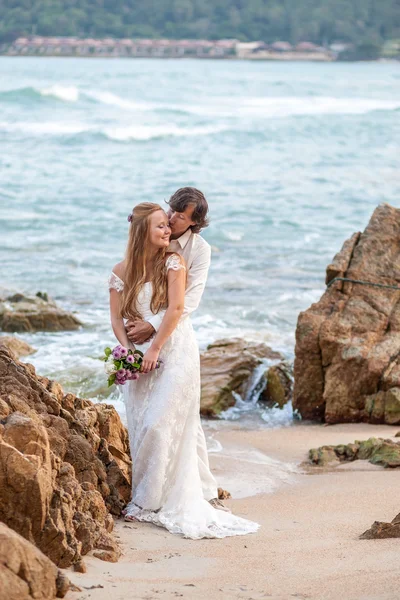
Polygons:
[[143,357],[142,371],[148,373],[156,368],[161,348],[178,325],[185,307],[186,269],[181,259],[180,268],[169,269],[168,279],[168,308],[157,331],[156,336]]

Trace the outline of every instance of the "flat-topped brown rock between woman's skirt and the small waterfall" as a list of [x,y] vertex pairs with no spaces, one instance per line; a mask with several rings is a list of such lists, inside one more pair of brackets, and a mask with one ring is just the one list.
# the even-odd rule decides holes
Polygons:
[[235,394],[246,398],[253,373],[264,359],[282,359],[262,343],[239,338],[222,339],[201,355],[201,405],[203,416],[214,417],[236,403]]

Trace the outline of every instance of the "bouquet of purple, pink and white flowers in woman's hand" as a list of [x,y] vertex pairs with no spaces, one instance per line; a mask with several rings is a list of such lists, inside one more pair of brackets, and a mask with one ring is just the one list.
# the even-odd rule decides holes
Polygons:
[[[127,381],[139,379],[143,352],[136,350],[136,348],[131,350],[118,345],[115,346],[114,350],[105,348],[102,360],[104,360],[104,368],[108,375],[108,387],[113,383],[124,385]],[[157,368],[160,366],[160,362],[157,362]]]

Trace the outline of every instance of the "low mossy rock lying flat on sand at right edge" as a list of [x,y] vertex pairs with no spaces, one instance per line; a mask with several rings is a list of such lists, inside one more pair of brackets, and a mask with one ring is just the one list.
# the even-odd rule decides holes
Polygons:
[[312,464],[320,467],[335,462],[368,460],[374,465],[394,469],[400,467],[400,442],[369,438],[363,442],[355,441],[354,444],[313,448],[309,451],[308,457]]

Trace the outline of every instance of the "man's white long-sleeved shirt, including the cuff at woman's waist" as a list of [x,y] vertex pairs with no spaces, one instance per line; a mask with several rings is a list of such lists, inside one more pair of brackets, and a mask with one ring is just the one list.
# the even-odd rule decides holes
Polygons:
[[[176,252],[185,259],[187,283],[183,315],[190,315],[199,306],[207,282],[211,260],[210,244],[189,228],[180,238],[171,241],[168,252]],[[164,314],[165,311],[160,311],[148,319],[156,331],[161,325]]]

